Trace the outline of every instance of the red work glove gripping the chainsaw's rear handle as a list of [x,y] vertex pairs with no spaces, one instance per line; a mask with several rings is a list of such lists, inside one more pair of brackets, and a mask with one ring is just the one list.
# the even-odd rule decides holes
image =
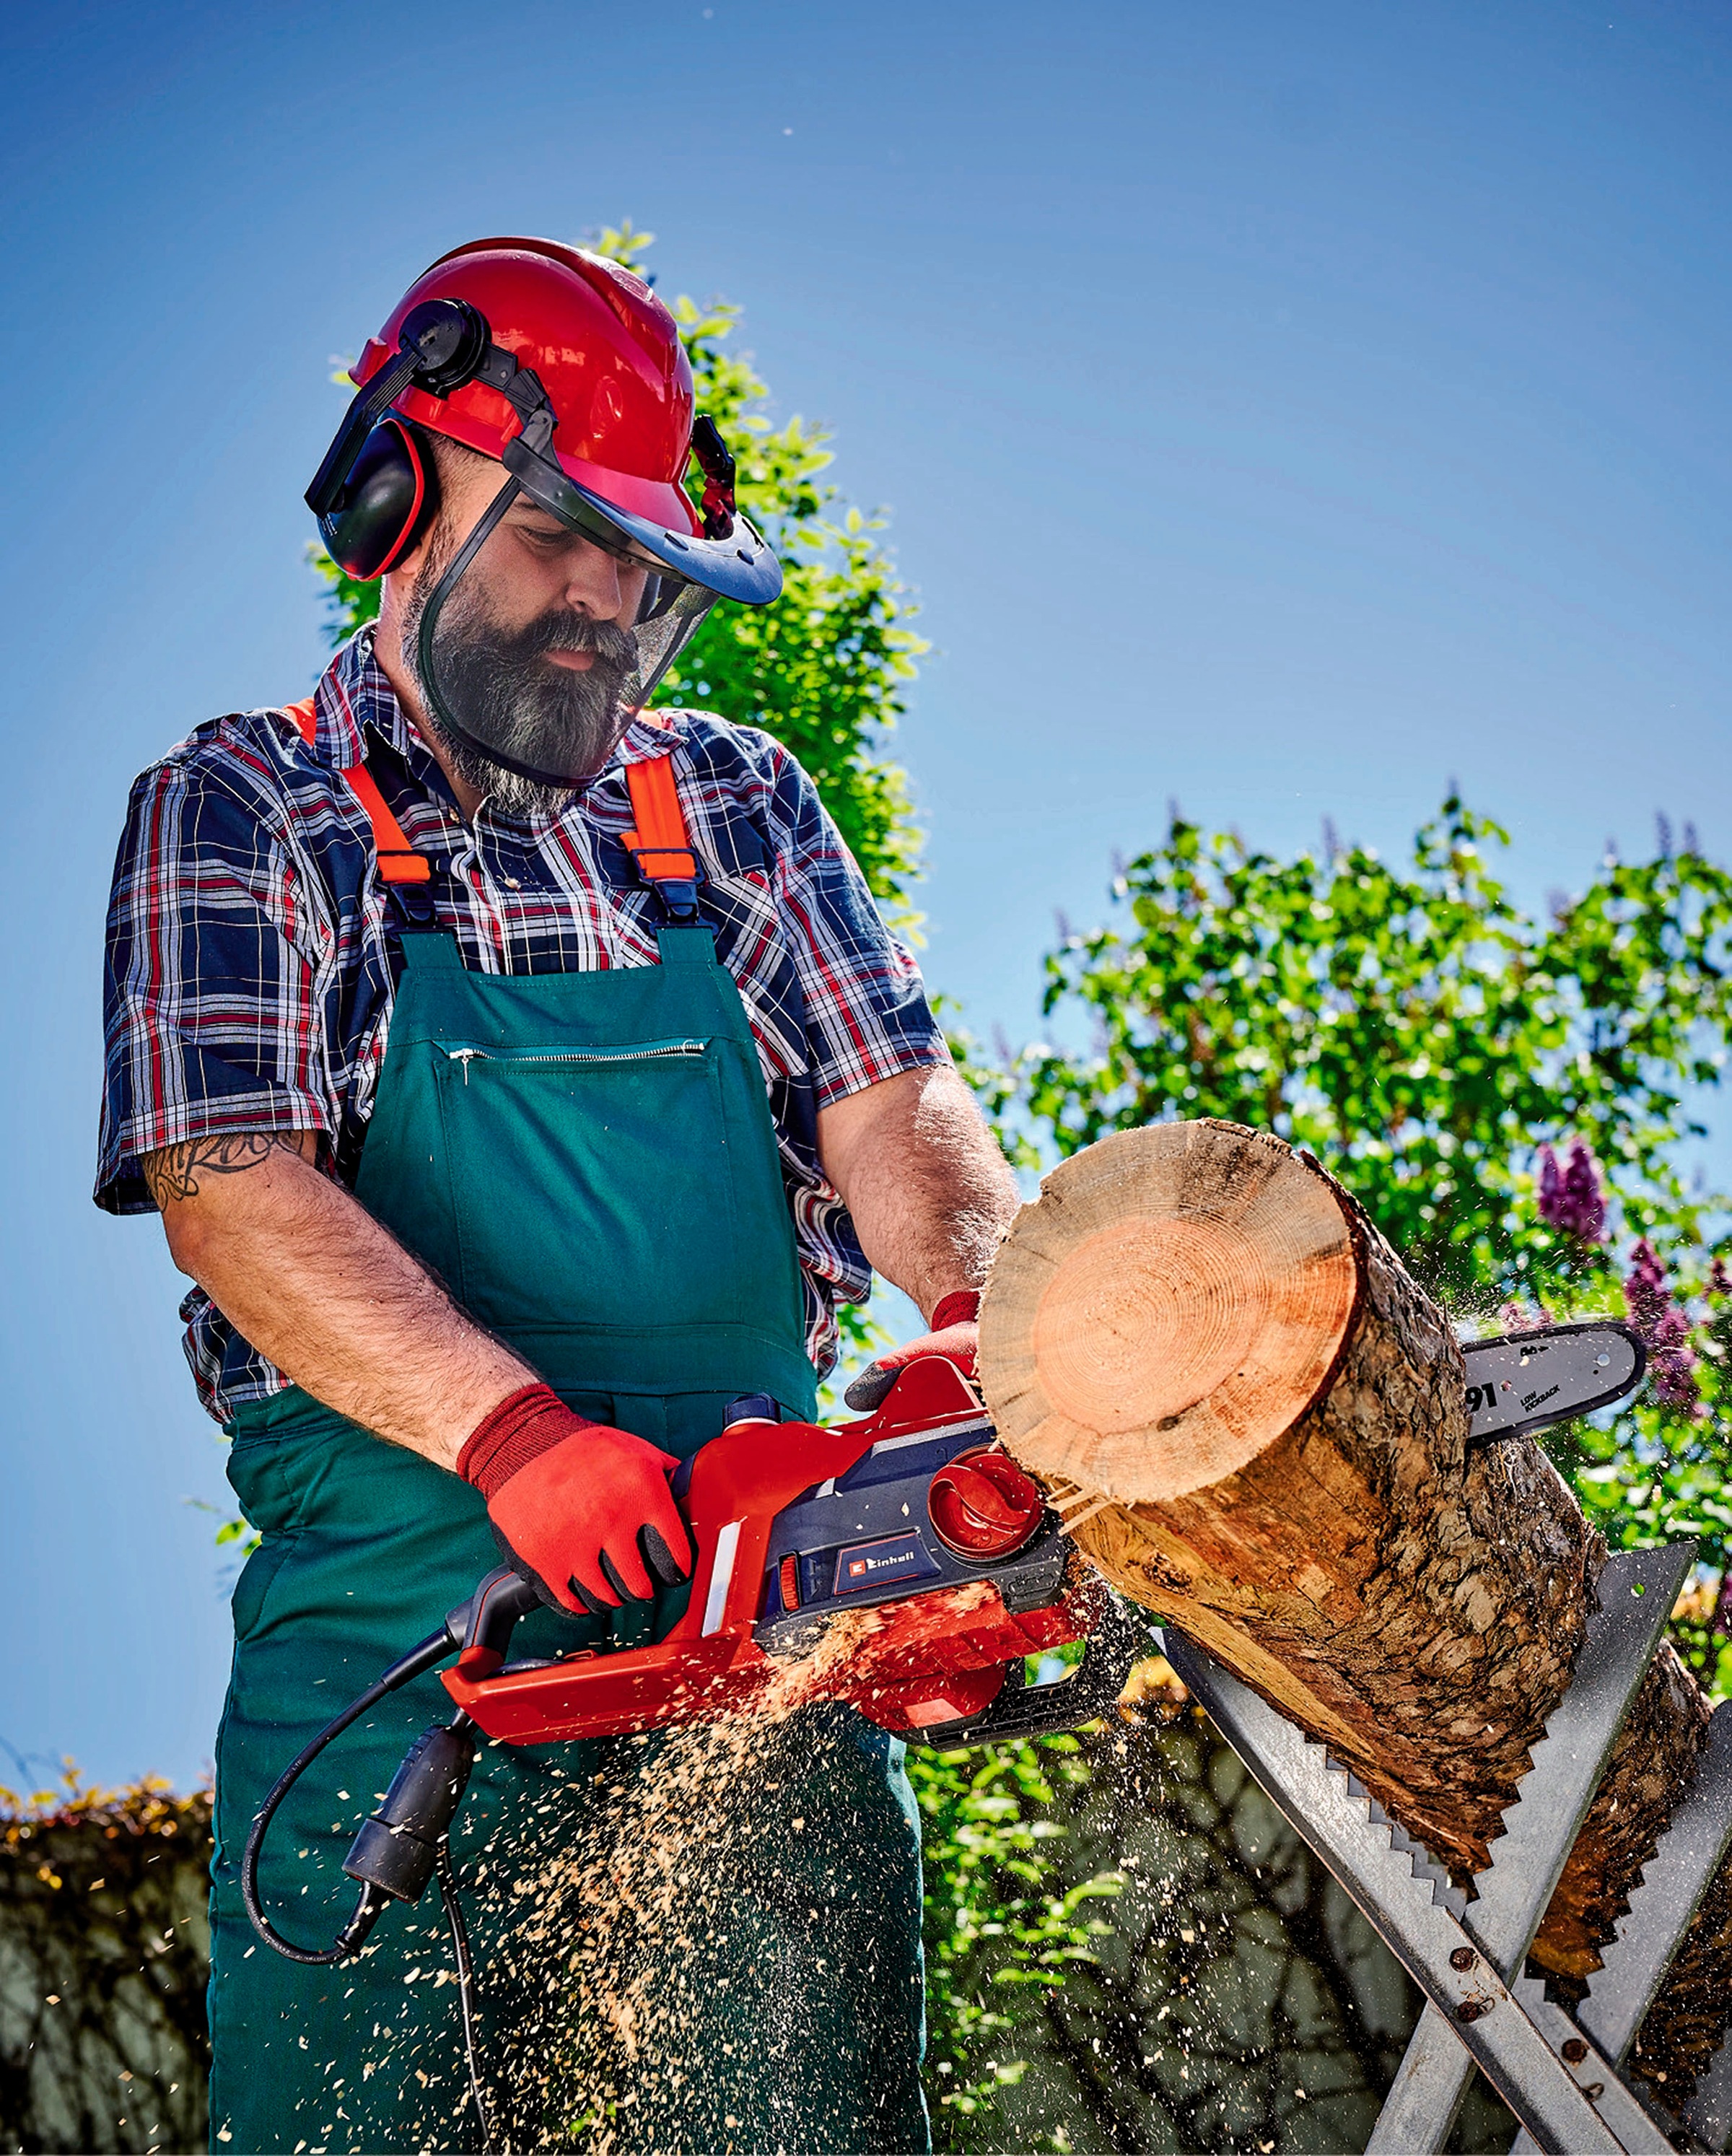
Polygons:
[[511,1393],[470,1436],[457,1473],[487,1498],[494,1539],[561,1611],[647,1602],[692,1570],[692,1537],[669,1492],[673,1453],[587,1423],[546,1384]]

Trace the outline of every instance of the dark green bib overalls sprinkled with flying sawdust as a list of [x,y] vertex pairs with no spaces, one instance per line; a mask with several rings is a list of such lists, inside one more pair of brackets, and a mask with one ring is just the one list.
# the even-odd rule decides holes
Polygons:
[[[472,975],[429,931],[403,951],[362,1205],[582,1414],[682,1457],[740,1393],[809,1414],[774,1128],[710,931],[662,929],[658,966],[608,972]],[[216,1746],[211,2145],[477,2147],[436,1893],[386,1910],[360,1960],[308,1968],[255,1938],[237,1867],[283,1766],[498,1563],[485,1507],[300,1391],[242,1408],[231,1434],[229,1479],[263,1542],[235,1587]],[[537,1613],[513,1658],[597,1634]],[[615,1636],[647,1636],[643,1613]],[[356,1824],[449,1712],[438,1677],[421,1677],[293,1789],[261,1865],[291,1938],[334,1938],[354,1904],[341,1861]],[[526,1882],[593,1835],[602,1807],[630,1830],[658,1749],[483,1746],[457,1813],[483,2068],[513,2147],[572,2137],[591,2111],[582,2050],[606,2044],[593,2016],[539,2035],[559,2029],[567,1958],[556,1943],[524,1949]],[[761,1757],[776,1766],[753,1740],[729,1833],[692,1856],[695,1912],[649,1940],[662,1975],[643,1981],[675,1990],[679,2012],[662,2070],[641,2076],[606,2145],[925,2150],[919,1822],[902,1744],[850,1710],[809,1708],[766,1731]],[[602,2081],[617,2093],[617,2059]]]

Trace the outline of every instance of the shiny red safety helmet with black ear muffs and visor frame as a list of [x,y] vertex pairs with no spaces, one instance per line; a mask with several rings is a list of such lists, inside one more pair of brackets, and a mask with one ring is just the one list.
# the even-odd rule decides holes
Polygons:
[[[427,599],[416,638],[434,714],[531,778],[574,772],[526,759],[498,724],[459,718],[436,638],[446,599],[518,494],[576,535],[649,569],[632,623],[643,705],[716,597],[768,606],[781,563],[733,505],[733,457],[692,412],[692,371],[673,315],[619,263],[554,239],[475,239],[403,293],[354,369],[356,395],[306,502],[332,558],[384,576],[427,530],[438,474],[416,433],[498,459],[505,481]],[[684,479],[697,457],[703,505]]]

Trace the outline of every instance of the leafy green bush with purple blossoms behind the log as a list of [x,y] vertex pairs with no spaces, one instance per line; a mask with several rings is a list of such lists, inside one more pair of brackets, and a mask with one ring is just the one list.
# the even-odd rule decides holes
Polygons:
[[1536,916],[1495,873],[1506,843],[1454,796],[1404,867],[1173,817],[1109,923],[1046,955],[1046,1013],[1089,1046],[996,1069],[962,1048],[1025,1166],[1163,1117],[1255,1123],[1475,1330],[1633,1317],[1648,1391],[1549,1442],[1613,1544],[1702,1537],[1682,1645],[1732,1690],[1728,1199],[1680,1160],[1732,1035],[1732,875],[1663,830]]

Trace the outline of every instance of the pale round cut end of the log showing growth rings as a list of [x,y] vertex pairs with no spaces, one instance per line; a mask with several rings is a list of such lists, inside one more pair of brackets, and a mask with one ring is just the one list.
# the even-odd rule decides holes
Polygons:
[[1025,1205],[981,1304],[999,1436],[1048,1481],[1160,1505],[1296,1423],[1359,1300],[1324,1175],[1234,1123],[1102,1138]]

